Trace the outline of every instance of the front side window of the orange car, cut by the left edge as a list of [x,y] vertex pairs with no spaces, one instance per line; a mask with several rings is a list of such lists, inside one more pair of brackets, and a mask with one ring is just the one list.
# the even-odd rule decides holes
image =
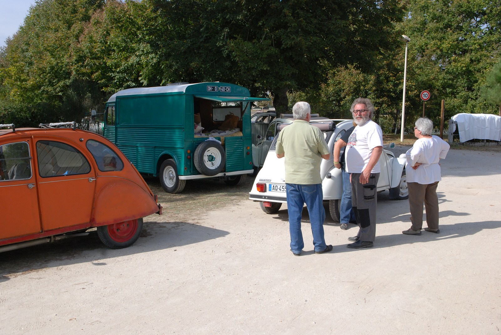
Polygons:
[[27,142],[9,143],[0,146],[0,179],[30,179],[32,165]]

